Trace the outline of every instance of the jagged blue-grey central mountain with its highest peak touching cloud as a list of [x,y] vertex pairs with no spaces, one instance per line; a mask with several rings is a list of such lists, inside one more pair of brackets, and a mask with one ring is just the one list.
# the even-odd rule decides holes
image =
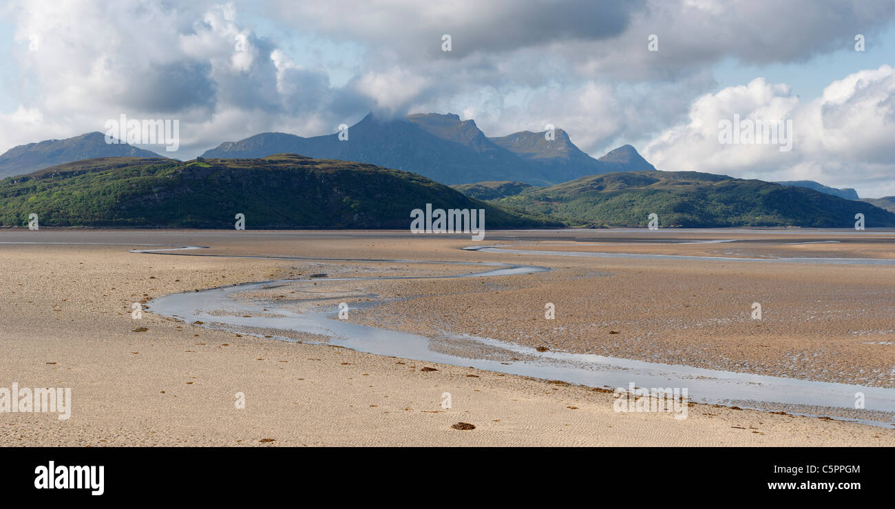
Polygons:
[[447,184],[511,180],[550,185],[584,175],[655,169],[630,145],[595,159],[575,147],[561,129],[553,132],[553,140],[546,139],[546,131],[489,138],[475,121],[452,114],[398,119],[370,114],[348,128],[347,134],[347,140],[339,140],[337,133],[303,138],[265,132],[227,141],[202,157],[266,157],[290,152],[395,168]]

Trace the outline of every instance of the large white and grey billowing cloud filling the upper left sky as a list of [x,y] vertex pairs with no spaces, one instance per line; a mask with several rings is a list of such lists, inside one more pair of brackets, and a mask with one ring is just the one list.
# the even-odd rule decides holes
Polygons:
[[180,120],[175,157],[192,157],[259,131],[329,131],[345,122],[344,105],[351,122],[381,99],[336,89],[326,70],[290,61],[240,22],[235,4],[34,0],[6,10],[22,43],[21,89],[30,93],[0,117],[0,151],[104,131],[124,114]]

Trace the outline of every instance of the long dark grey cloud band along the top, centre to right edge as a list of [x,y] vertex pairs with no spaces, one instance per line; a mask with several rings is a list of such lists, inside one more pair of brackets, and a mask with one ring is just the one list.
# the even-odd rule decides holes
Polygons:
[[[354,40],[371,58],[405,65],[450,65],[473,59],[494,72],[513,54],[532,63],[561,60],[586,77],[667,79],[733,57],[744,64],[804,62],[852,47],[854,37],[891,23],[888,0],[267,0],[277,19],[322,37]],[[349,14],[350,13],[350,14]],[[441,37],[452,51],[441,51]],[[659,51],[646,51],[659,36]],[[470,64],[469,62],[465,64]],[[524,74],[514,66],[513,74]]]

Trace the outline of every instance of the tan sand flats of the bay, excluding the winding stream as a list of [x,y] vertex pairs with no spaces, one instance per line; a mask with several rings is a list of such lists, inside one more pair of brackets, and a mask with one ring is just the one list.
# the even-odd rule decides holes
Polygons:
[[[567,237],[572,234],[492,233],[482,243],[512,243],[524,249],[549,243],[542,248],[557,250],[557,242],[567,242],[570,250],[608,252],[606,246],[585,248],[583,242],[571,242]],[[588,242],[613,240],[613,231],[588,234],[593,235]],[[677,240],[720,238],[718,232],[661,234]],[[723,234],[743,238],[743,233]],[[764,236],[776,241],[781,235]],[[787,242],[804,242],[808,236],[786,233],[787,239],[795,239]],[[827,233],[810,237],[830,240]],[[746,250],[747,256],[783,256],[780,253],[792,250],[806,256],[805,251],[813,249],[885,258],[868,253],[885,251],[888,239],[867,239],[857,250],[840,246],[848,242],[773,242],[767,252],[746,250],[745,245],[736,249]],[[2,231],[0,242],[123,244],[0,244],[0,386],[13,381],[21,386],[68,386],[74,400],[72,418],[66,421],[41,413],[0,414],[3,445],[895,444],[895,432],[887,428],[709,405],[690,407],[686,420],[675,420],[669,413],[618,413],[612,408],[612,394],[586,387],[325,344],[237,336],[151,312],[141,320],[130,317],[133,301],[228,284],[320,274],[440,276],[476,272],[475,267],[220,259],[127,250],[160,243],[211,247],[190,254],[544,265],[553,270],[487,280],[358,284],[347,288],[358,302],[369,294],[395,300],[353,311],[351,319],[420,334],[487,333],[551,350],[882,387],[891,387],[895,375],[895,346],[887,344],[895,323],[887,308],[895,291],[893,267],[509,255],[463,251],[473,244],[464,237],[423,238],[403,232],[42,229]],[[649,249],[719,256],[718,251],[731,249],[731,244]],[[818,246],[823,251],[817,251]],[[618,252],[647,252],[634,248],[615,246],[623,249]],[[344,290],[284,293],[282,301],[299,307],[328,305]],[[543,318],[546,301],[556,304],[555,320]],[[754,301],[763,303],[759,323],[749,318]],[[135,327],[149,330],[133,332]],[[234,408],[239,392],[245,394],[244,410]],[[451,394],[451,409],[441,408],[444,392]],[[451,428],[458,421],[473,423],[476,429]],[[274,441],[259,442],[265,438]]]

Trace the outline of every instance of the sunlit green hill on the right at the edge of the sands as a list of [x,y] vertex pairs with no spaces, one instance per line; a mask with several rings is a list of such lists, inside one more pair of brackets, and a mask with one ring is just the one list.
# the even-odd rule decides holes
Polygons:
[[626,172],[592,175],[531,188],[492,203],[550,216],[575,226],[867,227],[895,226],[895,214],[863,201],[803,187],[698,172]]

